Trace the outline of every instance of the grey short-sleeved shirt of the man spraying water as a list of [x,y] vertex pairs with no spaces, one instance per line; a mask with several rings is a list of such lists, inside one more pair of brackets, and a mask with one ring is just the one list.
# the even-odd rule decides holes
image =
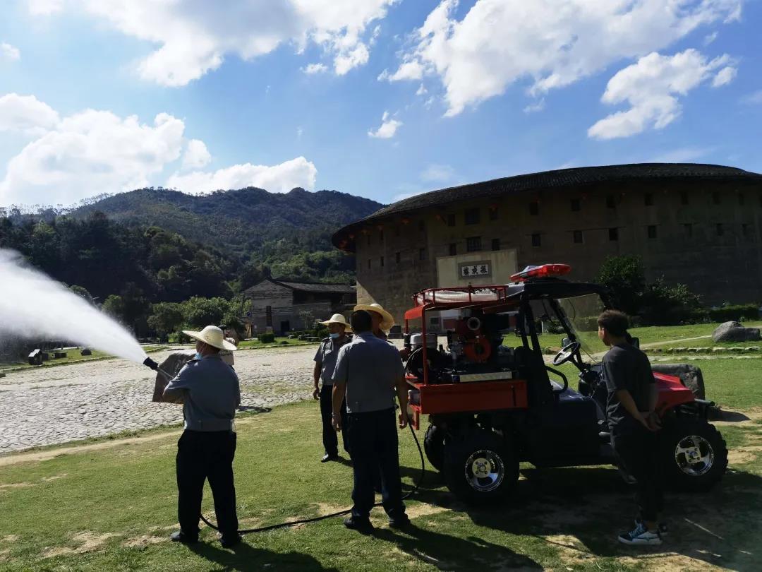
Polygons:
[[192,359],[165,387],[169,397],[183,397],[185,429],[226,431],[241,404],[238,375],[219,357]]

